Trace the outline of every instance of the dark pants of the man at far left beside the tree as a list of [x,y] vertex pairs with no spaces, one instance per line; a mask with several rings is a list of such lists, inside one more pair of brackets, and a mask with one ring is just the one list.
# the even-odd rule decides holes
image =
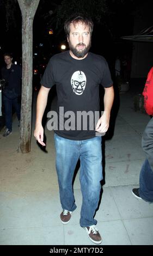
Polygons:
[[12,131],[12,109],[14,107],[15,112],[17,114],[17,119],[21,118],[21,104],[18,102],[18,98],[8,99],[5,95],[3,95],[4,100],[4,109],[5,109],[5,126]]

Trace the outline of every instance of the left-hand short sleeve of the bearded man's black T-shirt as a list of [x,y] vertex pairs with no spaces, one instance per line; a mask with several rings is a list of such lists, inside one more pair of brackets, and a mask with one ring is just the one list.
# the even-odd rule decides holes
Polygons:
[[53,75],[53,61],[52,58],[48,62],[47,68],[45,69],[44,75],[41,78],[40,84],[46,88],[51,88],[54,84],[54,75]]

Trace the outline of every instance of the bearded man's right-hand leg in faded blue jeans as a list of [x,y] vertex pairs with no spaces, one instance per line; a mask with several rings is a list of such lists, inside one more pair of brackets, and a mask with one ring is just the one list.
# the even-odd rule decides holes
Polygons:
[[97,223],[94,220],[97,209],[102,180],[101,137],[87,139],[80,145],[80,182],[82,191],[81,227],[90,227]]

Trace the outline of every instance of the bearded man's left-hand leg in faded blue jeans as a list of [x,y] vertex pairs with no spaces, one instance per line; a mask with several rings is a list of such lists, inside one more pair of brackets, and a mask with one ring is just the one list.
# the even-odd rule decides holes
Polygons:
[[72,179],[79,159],[77,141],[54,135],[56,147],[56,169],[58,175],[60,203],[68,211],[76,209]]

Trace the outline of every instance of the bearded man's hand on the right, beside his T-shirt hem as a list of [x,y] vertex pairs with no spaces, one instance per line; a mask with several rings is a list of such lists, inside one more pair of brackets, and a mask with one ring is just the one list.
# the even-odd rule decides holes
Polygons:
[[100,133],[107,132],[109,127],[109,119],[110,119],[110,114],[106,114],[106,112],[104,111],[103,115],[97,122],[95,131]]

